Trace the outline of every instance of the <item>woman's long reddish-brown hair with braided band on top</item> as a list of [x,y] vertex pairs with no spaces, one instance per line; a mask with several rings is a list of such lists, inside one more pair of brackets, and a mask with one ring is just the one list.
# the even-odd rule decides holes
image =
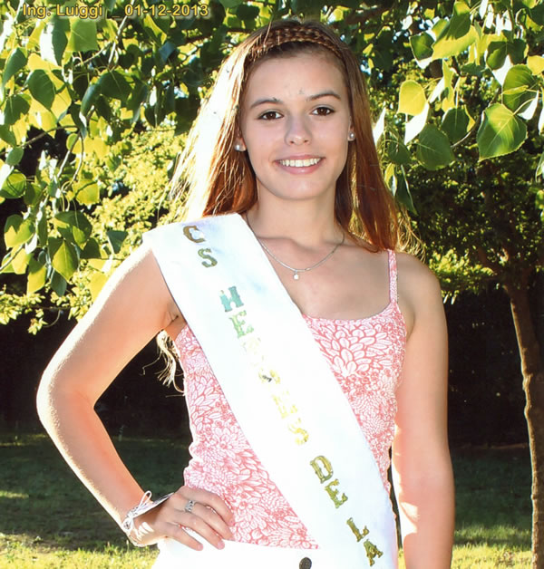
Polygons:
[[248,154],[234,148],[244,88],[257,64],[304,52],[323,53],[335,63],[349,95],[355,140],[348,144],[345,168],[336,182],[336,221],[377,249],[395,249],[399,217],[382,176],[363,74],[354,53],[318,22],[272,22],[239,43],[222,64],[172,180],[174,193],[185,198],[182,217],[242,214],[256,203],[257,182]]

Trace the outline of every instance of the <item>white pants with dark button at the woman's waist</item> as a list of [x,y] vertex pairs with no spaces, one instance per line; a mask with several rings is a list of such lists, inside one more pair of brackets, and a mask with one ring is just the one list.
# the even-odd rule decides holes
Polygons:
[[195,551],[174,539],[163,539],[153,569],[335,569],[334,559],[322,549],[224,543],[224,549],[216,549],[204,542],[204,549]]

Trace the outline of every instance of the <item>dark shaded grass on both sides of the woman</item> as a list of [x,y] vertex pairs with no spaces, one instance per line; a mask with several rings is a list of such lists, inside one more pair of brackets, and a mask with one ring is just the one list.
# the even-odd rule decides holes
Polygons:
[[[187,443],[114,440],[141,487],[161,496],[182,484]],[[530,547],[527,448],[452,452],[457,545]],[[37,550],[107,551],[127,540],[44,435],[0,433],[0,550],[9,543]],[[2,535],[3,534],[3,535]],[[4,542],[4,544],[3,544]]]

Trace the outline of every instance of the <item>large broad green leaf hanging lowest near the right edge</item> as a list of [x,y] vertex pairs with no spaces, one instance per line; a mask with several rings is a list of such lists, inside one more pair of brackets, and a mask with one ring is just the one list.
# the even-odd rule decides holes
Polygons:
[[483,121],[476,137],[480,158],[509,154],[519,149],[526,137],[525,123],[510,109],[495,103],[483,112]]

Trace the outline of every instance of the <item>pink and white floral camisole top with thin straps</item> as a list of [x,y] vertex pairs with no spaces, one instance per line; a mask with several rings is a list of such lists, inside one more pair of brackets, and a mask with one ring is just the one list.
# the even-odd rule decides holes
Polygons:
[[[360,320],[304,319],[364,430],[389,489],[387,469],[393,441],[398,385],[405,347],[403,315],[397,304],[396,258],[389,252],[390,302],[381,313]],[[183,328],[176,339],[185,373],[185,396],[193,442],[185,484],[219,494],[236,519],[239,542],[316,548],[238,426],[199,342]]]

